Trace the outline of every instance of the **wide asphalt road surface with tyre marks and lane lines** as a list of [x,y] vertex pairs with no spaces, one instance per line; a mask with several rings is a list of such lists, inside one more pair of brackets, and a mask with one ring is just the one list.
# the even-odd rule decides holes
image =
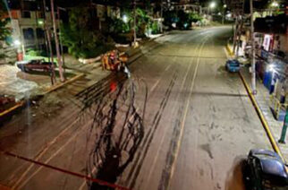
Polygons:
[[111,73],[32,102],[0,128],[0,148],[23,157],[0,154],[0,184],[243,189],[241,160],[271,147],[238,74],[224,70],[231,34],[173,31],[130,65],[131,79]]

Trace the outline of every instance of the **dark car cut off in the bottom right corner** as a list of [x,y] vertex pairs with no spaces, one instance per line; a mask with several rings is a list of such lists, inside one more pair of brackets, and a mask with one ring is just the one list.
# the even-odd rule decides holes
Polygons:
[[274,151],[251,150],[243,177],[247,190],[288,190],[288,173]]

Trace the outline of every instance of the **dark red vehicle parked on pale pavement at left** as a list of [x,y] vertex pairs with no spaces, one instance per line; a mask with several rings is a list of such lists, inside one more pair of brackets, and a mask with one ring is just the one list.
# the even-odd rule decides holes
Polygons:
[[30,61],[19,61],[16,62],[16,65],[22,72],[51,72],[55,63],[46,62],[44,59],[35,59]]

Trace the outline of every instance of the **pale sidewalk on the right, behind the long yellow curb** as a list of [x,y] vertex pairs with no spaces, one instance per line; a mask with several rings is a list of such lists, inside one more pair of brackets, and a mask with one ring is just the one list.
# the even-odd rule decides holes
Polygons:
[[[242,68],[241,73],[243,77],[245,78],[246,82],[248,82],[249,85],[251,86],[251,76],[249,73],[249,69]],[[256,85],[257,85],[256,88],[257,88],[258,93],[254,97],[258,103],[258,107],[261,109],[261,112],[263,113],[264,117],[267,120],[267,124],[270,127],[270,130],[275,139],[275,142],[277,142],[277,145],[279,146],[280,151],[282,152],[284,156],[284,160],[287,161],[288,160],[288,144],[278,143],[284,123],[277,121],[272,114],[272,111],[270,109],[270,96],[269,96],[269,91],[267,90],[267,88],[259,80],[257,80]],[[286,135],[285,141],[288,142],[288,135]]]

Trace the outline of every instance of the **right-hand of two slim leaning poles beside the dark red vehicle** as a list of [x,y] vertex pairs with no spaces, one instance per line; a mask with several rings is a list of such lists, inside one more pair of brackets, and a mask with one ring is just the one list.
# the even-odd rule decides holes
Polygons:
[[[53,29],[54,29],[54,36],[55,36],[55,47],[56,47],[56,54],[57,54],[57,62],[59,67],[59,75],[61,82],[64,82],[64,73],[63,73],[63,64],[60,56],[60,49],[59,49],[59,41],[58,41],[58,34],[55,22],[55,12],[54,12],[54,0],[50,0],[51,3],[51,15],[52,15],[52,22],[53,22]],[[58,18],[59,19],[59,18]]]

